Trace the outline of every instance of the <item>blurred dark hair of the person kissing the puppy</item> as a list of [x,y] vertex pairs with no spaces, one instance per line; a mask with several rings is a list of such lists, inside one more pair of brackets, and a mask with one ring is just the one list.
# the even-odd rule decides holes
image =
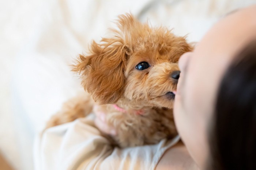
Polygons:
[[207,170],[256,170],[256,40],[227,69],[215,109]]

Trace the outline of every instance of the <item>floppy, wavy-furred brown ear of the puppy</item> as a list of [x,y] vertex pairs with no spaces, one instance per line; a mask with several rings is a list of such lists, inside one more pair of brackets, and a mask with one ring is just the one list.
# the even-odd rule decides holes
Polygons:
[[128,48],[121,37],[103,38],[91,44],[91,55],[80,55],[73,71],[79,72],[82,86],[99,104],[116,103],[123,95]]

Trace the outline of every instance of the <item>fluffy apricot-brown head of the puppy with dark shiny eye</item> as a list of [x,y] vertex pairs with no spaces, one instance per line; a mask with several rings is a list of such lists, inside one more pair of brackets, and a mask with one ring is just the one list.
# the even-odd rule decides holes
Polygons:
[[113,36],[91,44],[74,70],[99,104],[127,99],[140,106],[173,107],[180,56],[191,51],[184,37],[167,28],[151,28],[132,15],[121,15]]

